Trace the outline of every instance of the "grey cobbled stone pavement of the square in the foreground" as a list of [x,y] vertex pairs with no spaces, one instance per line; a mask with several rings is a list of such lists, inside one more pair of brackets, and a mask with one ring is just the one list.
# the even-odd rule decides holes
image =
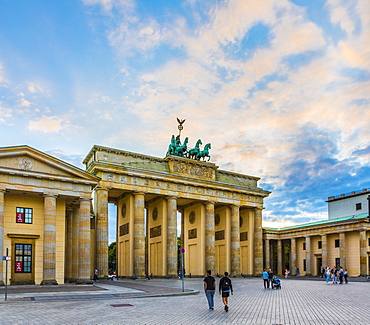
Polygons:
[[[161,279],[114,281],[114,286],[101,281],[90,291],[52,293],[60,299],[39,299],[51,297],[50,292],[14,293],[18,298],[33,294],[35,300],[2,301],[0,324],[370,324],[370,282],[281,282],[281,290],[265,290],[261,279],[233,279],[228,313],[219,295],[215,310],[208,310],[202,279],[194,278],[186,279],[185,287],[199,290],[197,295],[163,296],[178,294],[181,280]],[[160,296],[139,298],[143,293]],[[78,295],[84,297],[73,298]]]

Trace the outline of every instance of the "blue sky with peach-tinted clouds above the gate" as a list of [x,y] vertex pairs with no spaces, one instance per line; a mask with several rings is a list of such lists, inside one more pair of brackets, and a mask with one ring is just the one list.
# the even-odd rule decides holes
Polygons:
[[369,44],[368,0],[3,0],[0,146],[164,157],[186,118],[265,225],[324,219],[370,187]]

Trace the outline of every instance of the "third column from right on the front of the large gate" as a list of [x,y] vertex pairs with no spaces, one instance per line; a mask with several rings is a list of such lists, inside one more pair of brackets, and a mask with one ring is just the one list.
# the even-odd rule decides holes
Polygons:
[[215,274],[216,270],[215,204],[213,202],[206,203],[206,270],[211,270],[212,274]]

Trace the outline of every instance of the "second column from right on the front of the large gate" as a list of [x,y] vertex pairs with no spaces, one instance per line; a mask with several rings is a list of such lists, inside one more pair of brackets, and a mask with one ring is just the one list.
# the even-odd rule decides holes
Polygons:
[[231,274],[240,274],[240,215],[239,206],[231,206]]

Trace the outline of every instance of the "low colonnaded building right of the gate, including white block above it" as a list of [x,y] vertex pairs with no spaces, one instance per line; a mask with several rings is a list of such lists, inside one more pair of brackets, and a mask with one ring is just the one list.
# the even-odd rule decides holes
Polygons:
[[280,229],[264,228],[265,268],[278,274],[320,275],[323,267],[370,274],[370,191],[328,198],[329,219]]

